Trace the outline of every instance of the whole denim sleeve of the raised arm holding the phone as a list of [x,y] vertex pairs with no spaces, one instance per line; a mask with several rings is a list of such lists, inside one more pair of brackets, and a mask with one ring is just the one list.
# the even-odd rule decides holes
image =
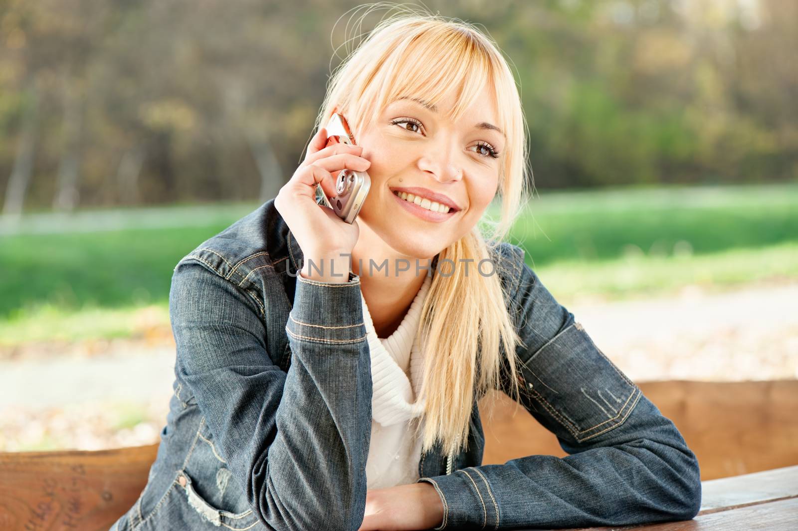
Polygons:
[[268,529],[358,529],[372,392],[359,277],[297,277],[287,372],[235,283],[188,259],[169,298],[178,376],[260,520]]

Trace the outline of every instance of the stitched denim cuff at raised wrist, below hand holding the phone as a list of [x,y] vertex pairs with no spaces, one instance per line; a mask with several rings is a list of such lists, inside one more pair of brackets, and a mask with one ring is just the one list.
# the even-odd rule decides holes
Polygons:
[[350,271],[343,284],[314,281],[297,275],[294,307],[286,332],[294,340],[316,343],[357,343],[365,340],[360,277]]

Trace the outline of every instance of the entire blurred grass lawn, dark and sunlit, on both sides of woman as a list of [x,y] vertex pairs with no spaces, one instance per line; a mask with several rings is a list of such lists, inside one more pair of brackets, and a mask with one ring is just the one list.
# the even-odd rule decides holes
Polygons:
[[[176,263],[255,207],[23,218],[0,232],[0,344],[130,336],[148,305],[168,324]],[[511,241],[563,300],[796,278],[798,184],[543,191]]]

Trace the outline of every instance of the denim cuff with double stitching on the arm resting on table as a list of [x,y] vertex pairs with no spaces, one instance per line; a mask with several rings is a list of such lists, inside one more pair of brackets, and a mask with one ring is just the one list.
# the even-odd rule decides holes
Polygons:
[[498,529],[499,505],[487,478],[470,466],[452,474],[420,478],[432,483],[444,504],[444,520],[435,529]]

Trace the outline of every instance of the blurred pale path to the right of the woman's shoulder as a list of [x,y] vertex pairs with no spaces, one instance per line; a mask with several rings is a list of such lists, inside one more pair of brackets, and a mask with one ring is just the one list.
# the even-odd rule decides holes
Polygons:
[[798,378],[798,283],[569,310],[635,381]]

